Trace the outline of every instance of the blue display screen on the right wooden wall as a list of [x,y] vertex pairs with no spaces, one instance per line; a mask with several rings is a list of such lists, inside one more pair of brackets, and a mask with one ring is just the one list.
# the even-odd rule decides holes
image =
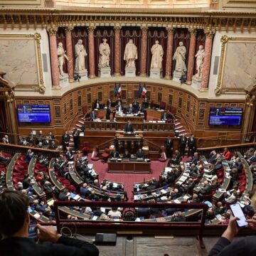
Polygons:
[[210,107],[209,125],[241,125],[242,108]]

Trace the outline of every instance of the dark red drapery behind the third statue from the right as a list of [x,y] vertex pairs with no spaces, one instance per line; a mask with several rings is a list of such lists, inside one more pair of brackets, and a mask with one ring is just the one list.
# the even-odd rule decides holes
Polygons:
[[167,49],[167,31],[165,28],[149,28],[148,31],[148,41],[147,41],[147,55],[146,55],[146,73],[150,74],[150,65],[151,65],[151,47],[154,46],[156,40],[159,41],[159,44],[164,49],[164,57],[162,62],[163,75],[166,73],[166,49]]

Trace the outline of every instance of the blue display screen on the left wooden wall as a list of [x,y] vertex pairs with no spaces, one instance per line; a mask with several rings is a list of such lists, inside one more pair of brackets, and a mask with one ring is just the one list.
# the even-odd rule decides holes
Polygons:
[[50,122],[49,105],[17,105],[18,122]]

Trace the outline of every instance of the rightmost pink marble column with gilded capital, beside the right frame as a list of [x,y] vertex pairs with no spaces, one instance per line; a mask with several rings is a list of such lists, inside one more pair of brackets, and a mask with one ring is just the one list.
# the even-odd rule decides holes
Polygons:
[[203,59],[203,72],[202,72],[202,82],[201,91],[208,90],[208,80],[210,75],[210,56],[213,47],[213,35],[215,31],[213,29],[205,29],[206,33],[206,46],[205,46],[205,57]]

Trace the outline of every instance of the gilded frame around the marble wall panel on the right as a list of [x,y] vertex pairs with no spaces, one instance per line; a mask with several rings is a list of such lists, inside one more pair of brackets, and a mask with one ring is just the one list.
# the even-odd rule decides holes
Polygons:
[[220,38],[221,41],[221,53],[220,53],[220,65],[218,69],[218,81],[217,85],[215,87],[215,94],[245,94],[245,88],[232,88],[232,87],[224,87],[223,86],[223,72],[225,68],[225,60],[226,60],[226,52],[227,52],[227,46],[228,42],[231,43],[255,43],[256,44],[256,38],[237,38],[237,37],[228,37],[228,36],[222,36]]

